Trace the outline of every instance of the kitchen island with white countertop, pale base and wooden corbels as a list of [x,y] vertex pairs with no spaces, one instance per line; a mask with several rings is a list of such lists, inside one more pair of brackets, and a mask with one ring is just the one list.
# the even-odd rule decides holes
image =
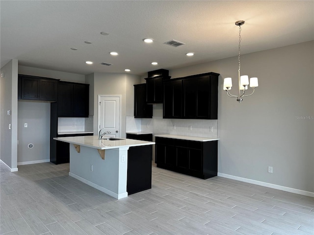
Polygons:
[[[78,136],[53,138],[56,141],[70,143],[70,172],[69,175],[85,184],[97,188],[106,194],[121,199],[128,196],[128,150],[130,147],[152,147],[155,142],[130,139],[104,138],[98,136]],[[109,140],[110,139],[110,140]],[[143,167],[150,167],[149,159]],[[146,171],[147,172],[147,171]],[[138,172],[140,174],[140,172]],[[151,175],[150,175],[151,177]],[[144,187],[143,190],[147,189]]]

